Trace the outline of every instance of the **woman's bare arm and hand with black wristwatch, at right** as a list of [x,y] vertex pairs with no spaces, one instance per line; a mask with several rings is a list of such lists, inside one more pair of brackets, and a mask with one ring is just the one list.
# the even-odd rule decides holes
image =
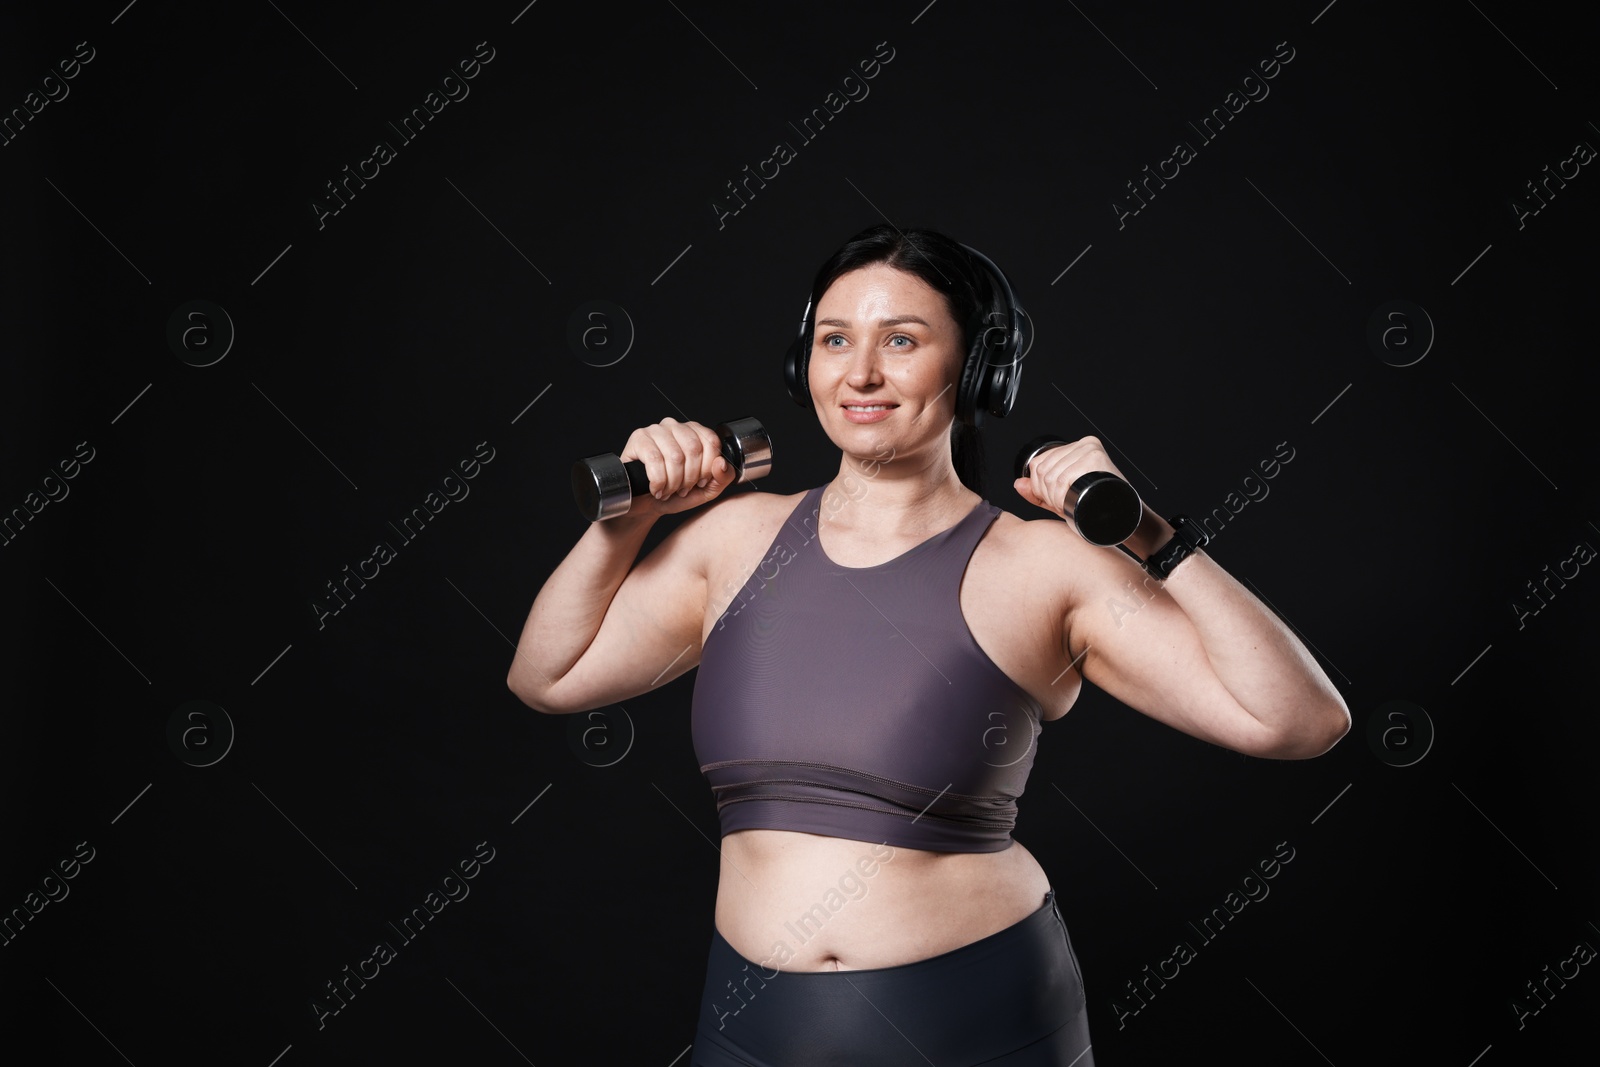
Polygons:
[[[1090,470],[1120,477],[1093,437],[1042,453],[1016,488],[1061,515],[1066,488]],[[1146,509],[1123,544],[1144,560],[1171,536],[1171,525]],[[1059,533],[1051,539],[1062,547]],[[1115,549],[1077,533],[1070,539],[1062,646],[1096,686],[1184,733],[1256,757],[1306,760],[1349,731],[1344,699],[1306,646],[1205,549],[1157,581]],[[1066,561],[1056,558],[1056,566]]]

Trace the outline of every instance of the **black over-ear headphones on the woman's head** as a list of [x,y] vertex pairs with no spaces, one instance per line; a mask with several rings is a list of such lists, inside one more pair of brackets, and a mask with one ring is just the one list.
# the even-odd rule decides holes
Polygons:
[[[1022,310],[1005,272],[989,256],[962,245],[990,277],[990,307],[981,322],[970,323],[973,344],[962,366],[962,382],[955,394],[955,418],[968,426],[982,426],[987,411],[1003,419],[1016,405],[1016,387],[1022,378],[1022,357],[1034,342],[1034,322]],[[784,384],[802,408],[811,406],[806,371],[811,363],[811,299],[800,315],[800,331],[784,355]]]

